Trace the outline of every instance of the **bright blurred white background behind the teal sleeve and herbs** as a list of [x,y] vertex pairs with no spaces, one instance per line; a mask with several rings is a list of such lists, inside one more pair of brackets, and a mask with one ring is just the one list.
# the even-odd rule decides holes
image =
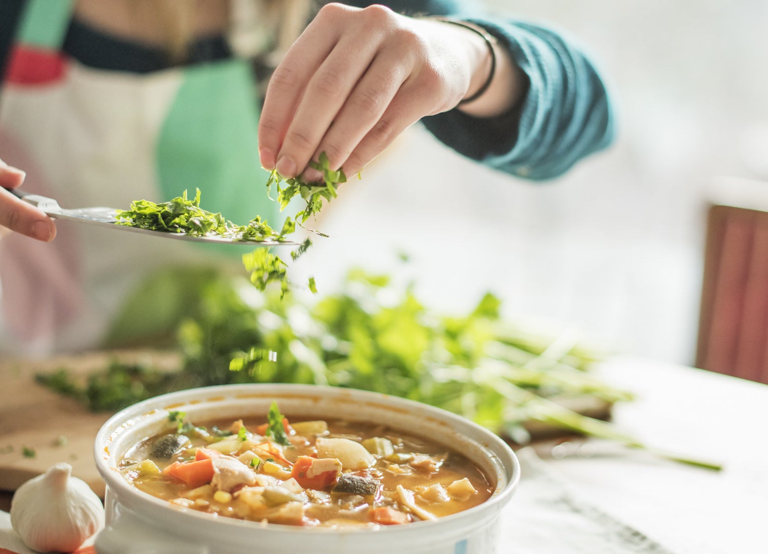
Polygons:
[[[545,184],[464,160],[413,127],[334,201],[299,262],[321,291],[408,252],[426,302],[505,312],[625,353],[694,363],[706,190],[768,181],[768,2],[520,0],[495,12],[578,41],[614,94],[610,150]],[[768,189],[766,189],[768,190]]]

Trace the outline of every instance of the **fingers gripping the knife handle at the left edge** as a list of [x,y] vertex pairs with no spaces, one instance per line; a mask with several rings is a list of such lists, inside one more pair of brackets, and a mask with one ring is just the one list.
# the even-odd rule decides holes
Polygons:
[[49,242],[56,236],[53,220],[35,206],[8,192],[21,186],[25,176],[22,170],[0,160],[0,234],[5,227],[33,239]]

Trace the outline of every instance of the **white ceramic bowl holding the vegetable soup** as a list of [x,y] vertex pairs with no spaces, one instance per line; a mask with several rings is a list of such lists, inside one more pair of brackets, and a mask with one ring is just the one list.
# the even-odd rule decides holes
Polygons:
[[[168,427],[168,411],[193,422],[264,416],[277,401],[283,414],[378,421],[429,437],[465,453],[495,485],[479,506],[434,521],[379,529],[303,528],[260,524],[175,506],[143,493],[118,471],[137,441]],[[98,554],[493,554],[498,552],[499,513],[518,484],[515,454],[495,434],[471,421],[418,402],[338,387],[237,384],[164,394],[134,404],[101,427],[94,444],[106,482],[105,529]]]

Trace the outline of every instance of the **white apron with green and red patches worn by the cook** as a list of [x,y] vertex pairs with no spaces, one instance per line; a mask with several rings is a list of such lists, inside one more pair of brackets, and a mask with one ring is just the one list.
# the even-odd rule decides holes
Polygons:
[[[127,208],[197,187],[202,207],[234,223],[257,214],[282,222],[263,187],[246,61],[151,74],[95,70],[60,52],[70,17],[71,1],[28,2],[0,90],[0,158],[27,172],[23,190],[65,208]],[[240,264],[242,253],[65,221],[57,227],[47,244],[0,239],[0,355],[98,347],[148,275]],[[135,315],[137,328],[152,310]]]

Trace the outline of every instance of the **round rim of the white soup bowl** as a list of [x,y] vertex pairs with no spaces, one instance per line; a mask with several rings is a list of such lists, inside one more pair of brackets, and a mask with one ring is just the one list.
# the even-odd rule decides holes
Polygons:
[[[238,391],[243,392],[238,394]],[[124,452],[118,453],[111,451],[109,445],[112,444],[114,440],[117,440],[122,433],[127,432],[128,429],[133,429],[136,425],[141,426],[141,424],[147,425],[152,423],[154,420],[146,418],[154,416],[158,412],[170,411],[174,407],[187,404],[198,404],[197,397],[206,397],[207,401],[215,402],[227,400],[227,396],[239,397],[258,394],[259,396],[266,397],[266,394],[270,394],[275,396],[279,401],[280,392],[283,392],[283,394],[293,393],[299,395],[310,395],[311,393],[311,396],[317,396],[318,394],[325,396],[330,394],[334,397],[350,395],[356,401],[378,401],[379,404],[386,405],[386,407],[406,409],[409,407],[417,408],[421,411],[428,411],[435,416],[436,419],[448,423],[451,428],[458,433],[462,433],[462,429],[472,430],[474,433],[481,435],[483,441],[481,443],[478,440],[466,437],[468,442],[474,443],[480,450],[484,450],[488,453],[490,463],[498,472],[497,476],[495,476],[497,479],[495,490],[488,500],[477,506],[462,510],[458,513],[453,513],[449,516],[442,516],[434,520],[409,523],[409,525],[406,526],[378,526],[376,528],[366,526],[360,528],[357,526],[303,527],[281,525],[277,523],[268,523],[265,525],[256,521],[236,519],[226,516],[218,517],[209,513],[200,512],[199,510],[184,508],[183,506],[175,506],[174,504],[167,502],[167,500],[158,499],[155,496],[151,496],[150,494],[144,493],[136,487],[131,486],[130,483],[127,483],[127,481],[124,480],[124,477],[116,467],[111,467],[108,463],[108,460],[113,458],[119,460],[119,457],[124,454]],[[184,401],[181,401],[181,399],[184,399]],[[141,420],[141,418],[145,418],[143,422],[137,421]],[[138,428],[141,429],[141,427]],[[494,447],[498,450],[494,450]],[[508,460],[502,460],[498,456],[498,451],[505,454]],[[211,529],[226,528],[232,529],[233,531],[236,529],[243,529],[245,531],[268,534],[306,533],[309,535],[319,535],[329,533],[336,535],[342,533],[396,533],[402,536],[419,536],[421,533],[425,533],[427,530],[426,526],[429,526],[433,533],[435,528],[442,527],[443,529],[440,529],[442,535],[459,536],[465,534],[462,533],[462,529],[466,528],[466,523],[475,522],[478,519],[485,518],[489,511],[501,510],[502,506],[508,503],[511,499],[520,480],[520,463],[518,462],[518,458],[515,456],[514,451],[511,450],[511,447],[509,447],[501,437],[498,437],[497,434],[492,433],[492,431],[485,427],[475,424],[475,422],[466,417],[462,417],[439,407],[413,401],[408,398],[397,397],[391,394],[365,391],[350,387],[333,387],[317,384],[222,384],[208,387],[194,387],[148,398],[147,400],[125,407],[104,422],[94,441],[94,459],[98,472],[107,484],[108,493],[110,491],[113,492],[118,496],[119,503],[123,504],[128,509],[132,509],[137,517],[147,520],[149,523],[153,523],[153,516],[159,515],[173,518],[176,522],[180,523],[182,527],[187,526],[190,529],[213,526]],[[478,462],[472,460],[471,457],[470,460],[473,463],[478,464]],[[505,481],[501,487],[498,486],[498,477],[502,477]],[[457,526],[459,521],[465,523]],[[242,531],[238,530],[238,533],[240,532]]]

